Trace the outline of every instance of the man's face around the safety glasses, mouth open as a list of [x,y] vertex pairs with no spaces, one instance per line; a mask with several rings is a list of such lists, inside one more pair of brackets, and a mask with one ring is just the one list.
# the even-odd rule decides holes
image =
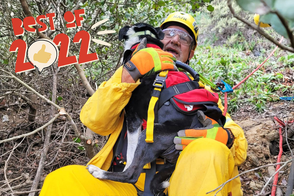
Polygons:
[[[169,29],[179,29],[188,33],[188,31],[180,26],[169,26]],[[189,33],[188,33],[189,34]],[[179,35],[174,36],[171,40],[161,40],[164,44],[163,50],[169,53],[172,53],[176,56],[178,61],[186,62],[188,59],[190,60],[194,56],[194,50],[191,50],[189,56],[189,50],[191,46],[185,46],[180,43]]]

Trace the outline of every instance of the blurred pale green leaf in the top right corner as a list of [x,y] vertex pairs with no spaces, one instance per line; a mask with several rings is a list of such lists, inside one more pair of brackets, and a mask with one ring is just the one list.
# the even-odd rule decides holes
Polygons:
[[276,0],[275,9],[286,19],[294,20],[294,1],[293,0]]

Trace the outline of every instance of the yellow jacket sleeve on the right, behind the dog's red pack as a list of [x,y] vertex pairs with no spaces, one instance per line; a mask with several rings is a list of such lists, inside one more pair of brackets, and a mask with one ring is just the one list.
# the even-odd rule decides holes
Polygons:
[[[200,86],[202,85],[203,84],[200,83]],[[206,90],[213,92],[209,86],[206,86],[206,85],[203,85],[203,86]],[[218,107],[222,110],[222,112],[225,109],[225,107],[221,103],[220,98],[218,99]],[[231,119],[230,114],[226,113],[225,117],[226,117],[226,122],[224,127],[227,129],[230,129],[235,137],[233,146],[230,148],[230,150],[235,160],[235,166],[238,166],[238,165],[241,165],[241,163],[243,163],[246,160],[248,143],[245,138],[243,129]]]

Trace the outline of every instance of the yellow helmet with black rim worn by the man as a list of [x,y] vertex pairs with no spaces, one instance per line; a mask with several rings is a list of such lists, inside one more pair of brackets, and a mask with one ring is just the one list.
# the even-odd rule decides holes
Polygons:
[[194,39],[195,47],[193,50],[195,50],[198,41],[198,26],[195,19],[190,14],[176,11],[169,14],[165,19],[162,20],[160,28],[166,29],[166,27],[172,25],[183,27],[188,31],[188,33],[190,33]]

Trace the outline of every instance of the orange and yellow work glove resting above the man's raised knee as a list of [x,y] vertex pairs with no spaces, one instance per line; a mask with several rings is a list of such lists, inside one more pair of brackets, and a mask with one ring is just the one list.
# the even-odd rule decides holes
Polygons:
[[211,138],[227,145],[228,148],[232,147],[234,136],[230,130],[223,128],[200,110],[197,112],[197,116],[204,127],[178,131],[178,137],[173,140],[177,150],[183,150],[190,142],[198,138]]

